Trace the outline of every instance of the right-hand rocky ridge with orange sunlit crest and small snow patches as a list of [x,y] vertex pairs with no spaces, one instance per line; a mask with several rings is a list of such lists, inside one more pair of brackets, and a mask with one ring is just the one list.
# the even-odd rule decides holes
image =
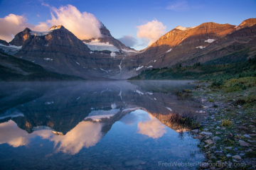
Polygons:
[[[159,68],[175,67],[177,64],[186,66],[196,62],[204,63],[238,52],[247,46],[255,46],[255,24],[256,18],[250,18],[242,21],[239,26],[213,22],[202,23],[192,28],[178,26],[147,47],[144,52],[137,55],[137,58],[144,68],[149,65]],[[230,36],[233,36],[233,40]],[[241,38],[243,40],[239,41],[238,39]],[[246,47],[238,47],[241,45]],[[229,50],[224,49],[225,47]],[[236,47],[237,50],[230,50]],[[221,52],[215,52],[216,50]],[[214,52],[216,55],[212,54]],[[255,48],[250,47],[250,57],[255,54]],[[194,60],[194,58],[201,59]]]

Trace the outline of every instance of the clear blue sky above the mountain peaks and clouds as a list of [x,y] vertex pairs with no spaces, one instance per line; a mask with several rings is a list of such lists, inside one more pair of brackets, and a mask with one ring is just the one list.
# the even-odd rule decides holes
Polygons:
[[[156,24],[162,24],[161,26],[158,25],[161,27],[159,36],[176,26],[191,27],[205,22],[239,25],[247,18],[256,18],[255,0],[1,0],[0,18],[13,13],[16,16],[23,16],[26,18],[26,23],[36,26],[39,22],[46,22],[51,19],[50,12],[53,7],[60,8],[60,6],[67,6],[68,4],[75,6],[81,13],[84,11],[92,13],[110,30],[114,38],[122,38],[124,35],[130,35],[129,37],[135,38],[137,43],[133,47],[137,50],[144,49],[150,39],[146,39],[146,35],[138,38],[137,26],[145,25],[151,21],[157,21],[157,23],[155,22]],[[4,30],[0,29],[0,31],[3,32]]]

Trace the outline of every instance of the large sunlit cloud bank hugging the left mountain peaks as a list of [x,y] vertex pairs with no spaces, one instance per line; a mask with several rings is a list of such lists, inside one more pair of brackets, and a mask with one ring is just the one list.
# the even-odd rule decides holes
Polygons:
[[[48,4],[42,5],[47,6]],[[27,23],[27,19],[24,16],[12,13],[9,16],[0,18],[0,39],[11,41],[14,35],[26,27],[31,28],[31,30],[42,31],[58,25],[64,26],[81,40],[100,38],[102,36],[100,33],[101,23],[92,13],[81,13],[78,8],[72,5],[61,6],[60,8],[52,7],[51,10],[52,18],[46,22],[38,23],[36,26]]]

